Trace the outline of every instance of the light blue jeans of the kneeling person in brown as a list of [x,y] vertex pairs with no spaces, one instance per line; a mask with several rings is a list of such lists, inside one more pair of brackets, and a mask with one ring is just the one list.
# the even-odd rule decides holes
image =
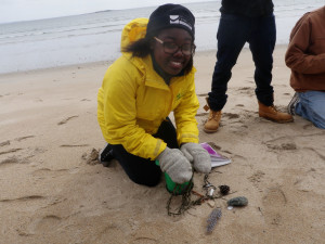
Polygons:
[[295,112],[297,115],[312,121],[315,127],[325,129],[325,92],[298,92],[299,102]]

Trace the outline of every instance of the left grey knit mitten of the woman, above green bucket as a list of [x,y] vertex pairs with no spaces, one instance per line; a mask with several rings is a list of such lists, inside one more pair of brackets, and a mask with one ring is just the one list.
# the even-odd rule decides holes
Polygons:
[[166,147],[156,159],[173,182],[182,184],[191,180],[192,165],[180,150]]

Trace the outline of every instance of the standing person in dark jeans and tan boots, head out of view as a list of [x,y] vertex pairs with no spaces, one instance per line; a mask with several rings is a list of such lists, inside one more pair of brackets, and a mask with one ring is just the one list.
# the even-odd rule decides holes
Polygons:
[[259,116],[276,123],[292,121],[291,115],[278,112],[273,105],[271,80],[276,29],[272,0],[222,0],[220,12],[217,62],[206,107],[210,113],[204,130],[216,132],[219,128],[232,68],[246,42],[256,66],[253,77]]

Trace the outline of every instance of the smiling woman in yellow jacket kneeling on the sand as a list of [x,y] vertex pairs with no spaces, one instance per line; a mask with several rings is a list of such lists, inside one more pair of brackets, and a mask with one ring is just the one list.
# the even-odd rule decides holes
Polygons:
[[191,180],[192,165],[211,170],[195,119],[194,23],[191,11],[179,4],[131,21],[122,30],[122,55],[99,90],[98,119],[108,143],[100,159],[116,158],[135,183],[154,187],[164,171],[181,184]]

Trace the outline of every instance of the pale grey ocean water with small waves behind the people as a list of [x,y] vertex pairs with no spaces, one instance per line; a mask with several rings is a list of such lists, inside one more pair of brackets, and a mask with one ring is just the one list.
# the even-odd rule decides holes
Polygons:
[[[220,0],[183,3],[196,17],[197,51],[217,47]],[[306,12],[325,0],[273,0],[277,44]],[[148,17],[156,7],[112,10],[41,21],[0,24],[0,74],[114,60],[120,55],[120,34],[135,17]]]

